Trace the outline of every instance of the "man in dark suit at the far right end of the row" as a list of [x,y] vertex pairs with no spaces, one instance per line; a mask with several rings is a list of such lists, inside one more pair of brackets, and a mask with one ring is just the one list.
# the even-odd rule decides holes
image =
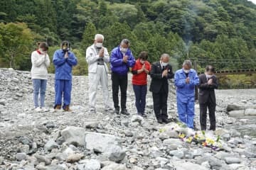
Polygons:
[[207,108],[209,110],[210,130],[215,130],[216,98],[214,89],[218,88],[218,81],[214,75],[214,67],[207,66],[206,73],[199,76],[199,106],[201,130],[206,130]]

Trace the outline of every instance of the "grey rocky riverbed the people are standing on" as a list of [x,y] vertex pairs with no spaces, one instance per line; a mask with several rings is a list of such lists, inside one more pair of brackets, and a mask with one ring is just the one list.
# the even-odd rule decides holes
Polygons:
[[[29,72],[0,69],[0,75],[0,169],[256,169],[256,138],[250,136],[255,122],[245,116],[247,109],[250,114],[255,109],[256,89],[216,91],[217,130],[196,132],[180,123],[156,123],[150,92],[147,118],[137,116],[130,83],[129,116],[104,113],[100,87],[97,113],[88,112],[87,77],[73,77],[73,112],[54,112],[50,74],[46,93],[50,111],[36,113]],[[170,87],[169,116],[175,119],[176,97],[174,86]],[[243,118],[231,117],[232,111],[243,113]],[[198,118],[196,104],[199,128]]]

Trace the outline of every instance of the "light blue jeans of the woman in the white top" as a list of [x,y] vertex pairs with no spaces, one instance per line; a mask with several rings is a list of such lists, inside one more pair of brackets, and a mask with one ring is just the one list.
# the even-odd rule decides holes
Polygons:
[[33,101],[34,106],[37,108],[39,106],[38,104],[38,94],[40,92],[40,107],[44,107],[44,101],[46,96],[46,79],[32,79],[33,83]]

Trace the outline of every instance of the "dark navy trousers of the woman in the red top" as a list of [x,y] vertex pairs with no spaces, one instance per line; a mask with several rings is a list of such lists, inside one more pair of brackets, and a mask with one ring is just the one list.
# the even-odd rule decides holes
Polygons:
[[135,94],[135,106],[137,108],[137,113],[144,113],[146,106],[146,90],[147,85],[133,85]]

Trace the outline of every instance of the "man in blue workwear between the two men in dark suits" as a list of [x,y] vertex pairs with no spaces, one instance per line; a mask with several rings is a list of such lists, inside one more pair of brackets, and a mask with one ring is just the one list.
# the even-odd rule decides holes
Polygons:
[[176,71],[174,79],[177,91],[178,118],[188,128],[193,129],[195,86],[199,84],[199,79],[196,71],[191,67],[190,60],[183,62],[183,68]]

